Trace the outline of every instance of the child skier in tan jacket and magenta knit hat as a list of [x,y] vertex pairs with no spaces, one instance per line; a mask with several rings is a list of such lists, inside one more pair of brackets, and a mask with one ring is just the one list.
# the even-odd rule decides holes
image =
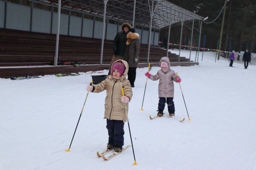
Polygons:
[[[96,85],[88,85],[87,91],[99,93],[107,91],[105,98],[105,114],[108,130],[108,149],[121,152],[124,145],[124,122],[127,121],[124,103],[128,111],[128,102],[132,99],[132,88],[129,80],[126,79],[128,73],[128,63],[124,60],[117,60],[112,64],[111,75]],[[124,95],[122,96],[122,88]]]

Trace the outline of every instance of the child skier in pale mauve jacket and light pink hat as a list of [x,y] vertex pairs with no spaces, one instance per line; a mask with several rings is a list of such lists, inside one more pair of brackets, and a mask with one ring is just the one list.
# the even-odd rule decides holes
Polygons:
[[174,116],[175,107],[174,107],[174,81],[180,83],[181,79],[177,77],[174,70],[170,69],[170,60],[168,57],[162,57],[160,59],[159,65],[160,70],[156,75],[152,75],[149,72],[145,73],[149,79],[156,81],[159,79],[158,85],[158,116],[161,117],[164,113],[165,103],[167,103],[168,112],[170,116]]

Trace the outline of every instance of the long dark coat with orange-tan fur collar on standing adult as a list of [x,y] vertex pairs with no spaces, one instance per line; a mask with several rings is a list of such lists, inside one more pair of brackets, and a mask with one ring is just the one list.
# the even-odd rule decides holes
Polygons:
[[[140,40],[138,33],[127,34],[126,51],[124,53],[124,60],[128,62],[129,67],[138,67]],[[137,58],[137,62],[134,59]]]

